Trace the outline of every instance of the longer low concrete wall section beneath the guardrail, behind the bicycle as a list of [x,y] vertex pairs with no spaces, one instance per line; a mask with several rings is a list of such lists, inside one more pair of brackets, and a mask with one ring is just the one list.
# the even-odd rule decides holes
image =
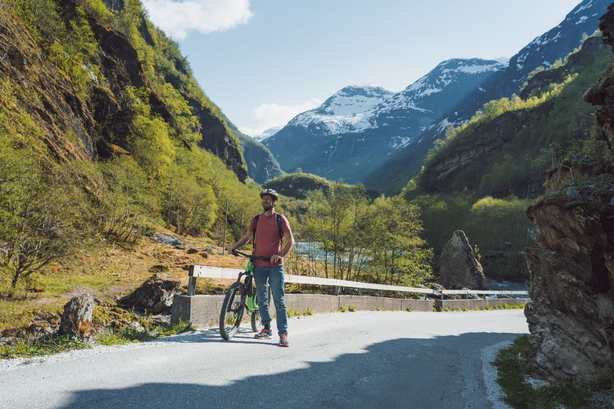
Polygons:
[[[223,295],[175,295],[171,322],[176,324],[179,319],[192,322],[192,325],[217,325],[222,309]],[[341,305],[356,306],[357,310],[433,311],[433,300],[401,300],[400,298],[370,297],[368,295],[325,295],[325,294],[286,294],[286,308],[293,312],[305,313],[308,308],[314,313],[328,313],[339,310]],[[276,314],[271,302],[271,316]]]

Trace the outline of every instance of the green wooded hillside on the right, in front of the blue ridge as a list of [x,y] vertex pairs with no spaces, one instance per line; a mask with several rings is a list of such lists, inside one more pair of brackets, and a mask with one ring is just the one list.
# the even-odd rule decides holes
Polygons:
[[566,63],[538,72],[521,96],[491,103],[427,155],[418,191],[476,192],[478,197],[535,198],[554,162],[582,146],[594,108],[586,90],[607,68],[612,52],[600,36],[586,39]]

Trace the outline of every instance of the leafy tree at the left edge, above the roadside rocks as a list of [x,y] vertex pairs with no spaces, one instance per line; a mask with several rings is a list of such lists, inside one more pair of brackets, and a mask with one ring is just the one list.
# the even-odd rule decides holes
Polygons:
[[78,192],[14,141],[0,145],[0,266],[12,294],[21,278],[75,252],[88,229]]

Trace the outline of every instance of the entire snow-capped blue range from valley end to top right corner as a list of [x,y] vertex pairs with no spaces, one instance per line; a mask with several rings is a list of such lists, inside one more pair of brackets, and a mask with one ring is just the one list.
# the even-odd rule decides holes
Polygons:
[[509,63],[505,58],[446,60],[394,95],[343,88],[317,109],[297,115],[263,144],[289,172],[300,167],[328,179],[378,185],[381,177],[390,179],[386,175],[393,167],[387,161],[394,157],[394,172],[411,176],[449,124],[464,123],[491,99],[518,93],[530,71],[564,58],[580,45],[583,33],[592,34],[609,4],[582,1]]

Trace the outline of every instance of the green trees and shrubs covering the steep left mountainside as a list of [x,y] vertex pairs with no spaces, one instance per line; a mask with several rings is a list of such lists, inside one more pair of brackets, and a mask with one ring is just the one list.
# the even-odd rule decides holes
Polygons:
[[[54,80],[74,87],[84,106],[91,103],[96,89],[111,92],[101,74],[98,43],[87,15],[130,38],[149,88],[125,87],[115,95],[128,108],[130,126],[125,136],[111,135],[114,153],[96,162],[74,158],[80,156],[75,152],[85,150],[84,141],[68,130],[59,138],[69,155],[52,152],[45,144],[48,125],[36,115],[36,109],[45,111],[41,90],[2,77],[2,295],[14,295],[21,281],[49,263],[61,263],[103,240],[134,244],[152,226],[161,226],[182,235],[209,232],[221,241],[219,209],[227,200],[231,236],[246,227],[234,222],[234,214],[251,215],[259,209],[254,200],[257,185],[242,184],[220,158],[195,146],[201,129],[192,105],[207,109],[222,124],[224,119],[198,88],[177,44],[153,28],[138,1],[126,1],[119,11],[108,10],[100,0],[83,0],[78,7],[60,6],[54,0],[7,3],[2,21],[15,18],[42,49],[39,54],[27,50],[40,65],[30,82],[37,83],[36,76],[44,74],[41,67],[50,66],[59,74]],[[163,101],[170,118],[163,119],[153,109],[154,95]]]

